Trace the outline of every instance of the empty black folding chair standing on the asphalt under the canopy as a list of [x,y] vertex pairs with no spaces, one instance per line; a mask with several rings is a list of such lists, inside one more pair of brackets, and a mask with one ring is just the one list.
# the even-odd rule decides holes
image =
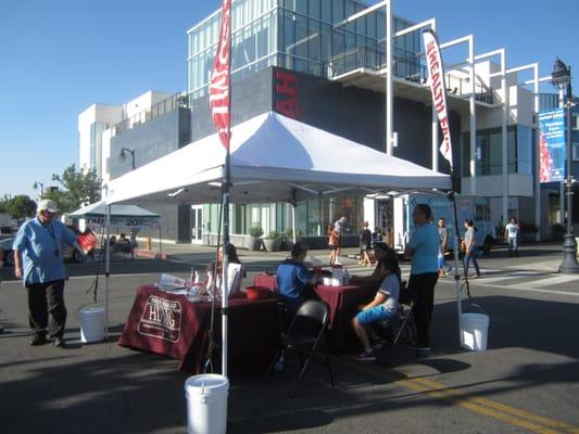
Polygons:
[[[325,365],[328,368],[331,386],[333,387],[335,385],[327,345],[325,344],[324,339],[328,327],[328,305],[316,299],[306,301],[298,308],[298,311],[295,312],[288,331],[282,333],[277,340],[279,348],[272,360],[267,373],[269,374],[272,372],[276,361],[279,359],[284,350],[287,353],[295,353],[301,363],[298,382],[290,394],[290,398],[295,395],[305,370],[312,360]],[[314,356],[318,353],[324,355],[323,360],[317,360],[314,358]],[[306,357],[305,361],[304,356]]]

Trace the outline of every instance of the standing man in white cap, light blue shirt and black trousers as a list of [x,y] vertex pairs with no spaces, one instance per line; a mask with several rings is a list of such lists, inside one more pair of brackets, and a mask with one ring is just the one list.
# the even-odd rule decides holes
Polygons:
[[66,271],[62,245],[75,245],[76,234],[54,219],[56,212],[53,201],[40,201],[37,216],[22,225],[12,245],[14,272],[28,293],[28,319],[35,333],[33,346],[47,343],[47,328],[54,346],[64,346]]

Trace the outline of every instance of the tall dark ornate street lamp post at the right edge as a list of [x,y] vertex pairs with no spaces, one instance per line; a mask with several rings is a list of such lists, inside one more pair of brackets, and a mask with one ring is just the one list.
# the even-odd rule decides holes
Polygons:
[[571,67],[562,62],[557,58],[553,72],[551,73],[553,85],[559,90],[567,91],[567,179],[565,180],[566,195],[567,195],[567,233],[565,233],[565,241],[563,243],[564,257],[559,265],[561,273],[579,273],[579,264],[577,264],[577,243],[572,233],[572,149],[571,149]]

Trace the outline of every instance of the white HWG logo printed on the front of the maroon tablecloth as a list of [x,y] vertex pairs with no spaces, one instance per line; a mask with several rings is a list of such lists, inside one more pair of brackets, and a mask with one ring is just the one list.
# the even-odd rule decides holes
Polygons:
[[140,334],[177,343],[181,330],[181,304],[150,295],[139,321]]

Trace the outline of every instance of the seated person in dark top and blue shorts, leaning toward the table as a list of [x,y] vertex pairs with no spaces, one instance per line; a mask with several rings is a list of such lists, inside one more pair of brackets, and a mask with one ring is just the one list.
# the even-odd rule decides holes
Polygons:
[[[376,321],[385,321],[395,315],[399,308],[400,297],[400,267],[398,265],[397,253],[389,248],[382,258],[386,277],[369,304],[362,308],[352,320],[352,326],[356,332],[360,342],[364,346],[356,359],[361,361],[376,360],[376,354],[370,345],[369,336],[375,342],[375,348],[379,349],[383,345],[381,339],[372,330],[372,323]],[[369,335],[369,336],[368,336]]]

